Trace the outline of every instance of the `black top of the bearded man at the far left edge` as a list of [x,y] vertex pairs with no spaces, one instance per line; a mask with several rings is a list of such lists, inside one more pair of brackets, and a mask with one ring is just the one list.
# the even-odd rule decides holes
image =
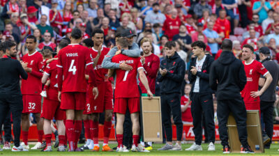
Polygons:
[[20,77],[27,79],[27,72],[22,68],[20,61],[0,59],[0,98],[20,96]]

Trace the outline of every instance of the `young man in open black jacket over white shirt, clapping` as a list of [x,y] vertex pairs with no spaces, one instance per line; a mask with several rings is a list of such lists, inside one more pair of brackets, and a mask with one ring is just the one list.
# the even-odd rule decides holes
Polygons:
[[193,116],[193,131],[195,143],[186,150],[202,150],[202,113],[204,112],[204,122],[207,130],[209,148],[215,150],[215,123],[213,97],[209,86],[209,72],[213,57],[205,54],[206,45],[202,41],[193,42],[193,55],[196,56],[190,63],[188,79],[192,84],[190,92],[191,113]]

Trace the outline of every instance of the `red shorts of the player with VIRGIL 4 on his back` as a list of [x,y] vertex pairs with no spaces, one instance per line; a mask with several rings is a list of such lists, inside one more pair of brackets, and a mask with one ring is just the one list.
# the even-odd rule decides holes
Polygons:
[[86,93],[66,92],[61,94],[61,109],[84,110]]

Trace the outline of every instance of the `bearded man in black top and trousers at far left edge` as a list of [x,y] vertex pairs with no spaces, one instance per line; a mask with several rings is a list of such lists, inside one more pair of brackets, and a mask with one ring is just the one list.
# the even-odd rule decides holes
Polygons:
[[[17,55],[16,44],[11,41],[4,42],[6,56],[0,59],[0,125],[10,111],[13,115],[13,133],[15,134],[15,146],[12,151],[26,151],[20,146],[20,123],[23,109],[22,93],[20,91],[20,76],[27,79],[24,68],[27,64],[11,59]],[[1,149],[1,148],[0,148]]]

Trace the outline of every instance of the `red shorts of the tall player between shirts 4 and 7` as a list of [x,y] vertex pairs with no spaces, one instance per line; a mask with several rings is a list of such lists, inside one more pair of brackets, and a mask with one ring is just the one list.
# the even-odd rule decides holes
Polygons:
[[[109,81],[97,82],[99,91],[98,98],[94,100],[91,93],[91,113],[103,113],[105,110],[112,110],[112,84]],[[92,89],[91,89],[92,90]]]

